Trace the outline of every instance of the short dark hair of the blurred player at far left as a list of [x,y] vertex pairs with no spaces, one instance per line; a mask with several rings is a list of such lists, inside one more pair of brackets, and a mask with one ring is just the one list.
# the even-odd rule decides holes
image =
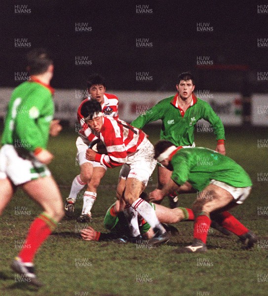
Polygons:
[[29,51],[26,55],[27,71],[30,75],[45,73],[53,61],[44,48],[36,48]]

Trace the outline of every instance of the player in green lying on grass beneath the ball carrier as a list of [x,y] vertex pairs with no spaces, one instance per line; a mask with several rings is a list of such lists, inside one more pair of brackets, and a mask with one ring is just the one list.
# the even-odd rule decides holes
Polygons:
[[[161,223],[178,223],[180,221],[193,221],[193,213],[191,209],[187,208],[175,208],[169,209],[164,206],[150,203],[155,210],[156,217]],[[138,218],[139,229],[141,237],[137,237],[132,240],[129,226],[125,215],[120,209],[119,201],[116,201],[107,211],[104,218],[104,227],[110,230],[110,233],[103,233],[94,230],[92,227],[88,226],[81,230],[81,236],[84,240],[95,240],[95,241],[107,241],[114,240],[117,238],[123,238],[124,241],[130,240],[131,242],[144,242],[142,239],[153,238],[153,229],[150,225],[142,219],[140,216]],[[175,227],[174,227],[175,228]]]

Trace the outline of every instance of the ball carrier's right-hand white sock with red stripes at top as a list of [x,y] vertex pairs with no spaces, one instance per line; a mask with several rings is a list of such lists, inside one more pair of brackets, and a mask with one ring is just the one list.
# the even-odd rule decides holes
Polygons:
[[148,202],[146,202],[142,198],[138,198],[133,202],[131,207],[136,210],[150,224],[153,229],[158,228],[161,234],[166,232],[165,228],[158,221],[153,207]]

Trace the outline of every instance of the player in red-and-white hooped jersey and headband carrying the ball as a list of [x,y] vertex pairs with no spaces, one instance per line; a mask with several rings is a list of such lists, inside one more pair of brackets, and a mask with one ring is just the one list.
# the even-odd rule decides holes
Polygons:
[[153,159],[153,145],[146,134],[122,120],[103,116],[97,101],[88,101],[81,108],[85,122],[104,143],[108,154],[99,154],[87,149],[86,158],[113,168],[123,165],[117,185],[117,198],[131,207],[125,210],[133,237],[140,235],[138,214],[151,225],[154,237],[151,244],[169,239],[170,235],[156,218],[153,208],[140,198],[153,173],[156,161]]

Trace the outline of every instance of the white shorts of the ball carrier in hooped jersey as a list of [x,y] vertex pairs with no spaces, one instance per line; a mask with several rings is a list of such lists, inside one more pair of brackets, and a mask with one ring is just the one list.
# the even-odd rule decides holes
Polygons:
[[138,150],[127,157],[126,163],[120,170],[119,178],[135,178],[146,186],[156,165],[153,155],[153,144],[145,137]]

